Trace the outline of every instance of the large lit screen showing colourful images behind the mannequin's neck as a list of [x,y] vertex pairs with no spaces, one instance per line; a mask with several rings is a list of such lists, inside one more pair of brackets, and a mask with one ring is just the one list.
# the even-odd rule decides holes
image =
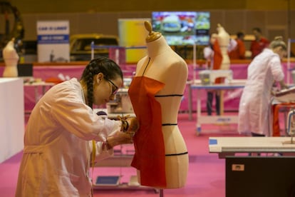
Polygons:
[[209,44],[209,11],[153,11],[152,30],[171,46]]

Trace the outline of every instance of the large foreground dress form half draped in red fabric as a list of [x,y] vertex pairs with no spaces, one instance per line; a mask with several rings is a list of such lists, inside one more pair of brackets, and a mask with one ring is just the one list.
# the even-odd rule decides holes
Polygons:
[[129,88],[140,122],[131,165],[138,169],[138,181],[143,186],[181,188],[187,180],[189,160],[177,115],[187,81],[187,64],[160,33],[152,31],[148,21],[145,28],[149,31],[148,56],[138,61]]

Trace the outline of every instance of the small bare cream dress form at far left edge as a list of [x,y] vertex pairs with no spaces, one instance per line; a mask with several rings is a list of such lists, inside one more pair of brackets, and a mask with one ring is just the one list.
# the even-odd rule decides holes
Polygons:
[[3,77],[19,76],[17,71],[19,55],[16,53],[16,49],[14,49],[14,39],[11,39],[11,41],[9,41],[4,47],[3,58],[5,63]]

